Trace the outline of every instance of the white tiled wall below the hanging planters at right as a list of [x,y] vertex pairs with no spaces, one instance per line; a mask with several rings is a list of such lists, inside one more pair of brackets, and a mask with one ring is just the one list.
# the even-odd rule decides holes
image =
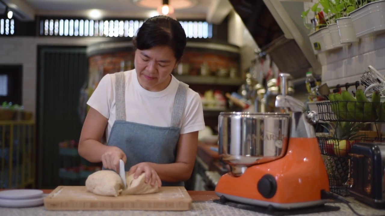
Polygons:
[[370,35],[348,47],[321,53],[319,59],[322,82],[328,86],[360,81],[369,65],[385,75],[385,34]]

